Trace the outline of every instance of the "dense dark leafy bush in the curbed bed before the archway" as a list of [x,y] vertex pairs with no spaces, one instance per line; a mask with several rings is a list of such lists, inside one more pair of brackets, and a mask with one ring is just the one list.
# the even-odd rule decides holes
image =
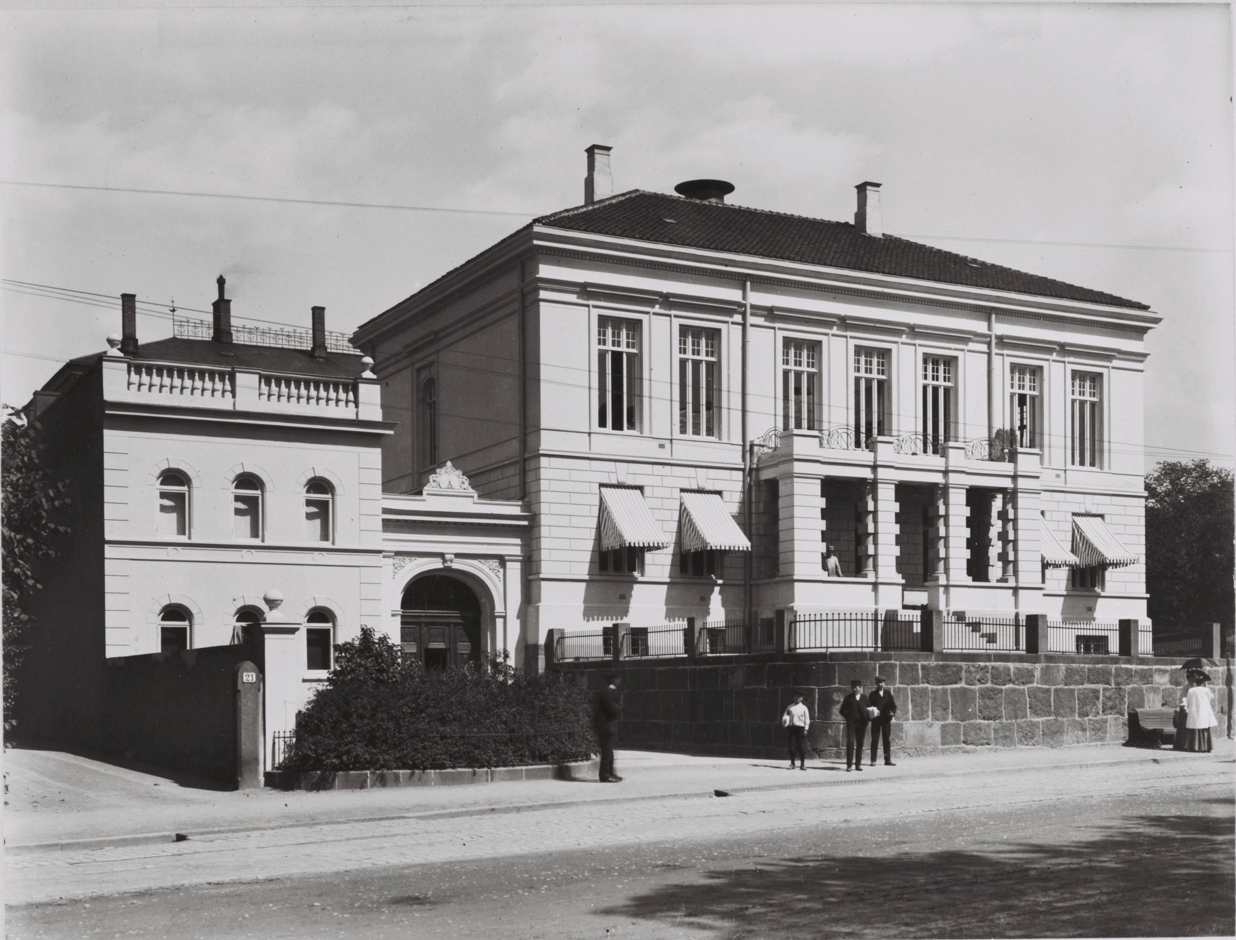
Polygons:
[[513,767],[596,751],[586,689],[503,661],[426,671],[387,637],[335,647],[335,668],[297,716],[293,771]]

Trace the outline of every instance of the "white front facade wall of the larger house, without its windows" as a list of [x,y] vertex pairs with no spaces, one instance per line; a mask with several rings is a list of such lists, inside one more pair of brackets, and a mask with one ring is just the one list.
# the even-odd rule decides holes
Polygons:
[[[821,506],[818,492],[808,498],[810,487],[796,487],[802,499],[815,504],[782,506],[782,526],[789,519],[802,531],[782,532],[782,539],[792,536],[795,545],[792,573],[786,569],[782,541],[780,579],[754,588],[758,615],[796,608],[806,598],[816,609],[899,606],[904,598],[891,545],[899,532],[896,505],[890,501],[900,483],[944,487],[948,482],[957,490],[939,500],[939,505],[953,506],[949,518],[939,521],[943,529],[937,540],[952,556],[965,551],[967,487],[995,489],[997,505],[1014,505],[1011,464],[967,462],[959,450],[948,464],[943,457],[892,455],[894,447],[901,446],[896,439],[922,431],[925,356],[954,361],[953,426],[963,445],[985,440],[991,429],[1011,424],[1009,382],[1014,366],[1041,369],[1041,455],[1032,469],[1030,464],[1025,472],[1018,469],[1018,505],[1032,506],[1037,515],[1041,503],[1065,545],[1069,535],[1059,513],[1083,511],[1072,506],[1085,505],[1086,499],[1091,506],[1111,506],[1110,511],[1096,511],[1105,513],[1112,532],[1131,551],[1143,555],[1143,337],[1157,322],[1154,315],[620,240],[601,251],[602,241],[602,236],[550,230],[534,230],[524,242],[513,237],[491,250],[491,257],[476,259],[471,271],[454,272],[358,335],[378,361],[378,373],[393,377],[399,369],[428,368],[450,350],[460,355],[470,348],[464,324],[480,324],[498,316],[497,311],[515,319],[514,334],[523,336],[528,356],[523,493],[518,429],[514,446],[501,453],[492,445],[464,442],[441,450],[440,458],[455,460],[486,495],[527,499],[533,515],[527,613],[520,630],[527,647],[539,645],[554,627],[653,626],[687,616],[744,615],[742,556],[730,553],[724,572],[708,579],[679,574],[675,547],[646,552],[644,569],[637,576],[599,572],[597,520],[599,487],[624,483],[643,489],[654,519],[671,540],[679,537],[679,493],[684,488],[721,492],[745,527],[740,363],[747,283],[751,309],[748,441],[781,426],[781,348],[786,340],[812,342],[818,348],[816,434],[853,426],[855,348],[886,351],[887,435],[892,439],[879,471],[864,467],[861,460],[823,453],[818,446],[816,456],[808,455],[808,462],[796,463],[792,471],[796,479],[815,473],[874,482],[879,476],[871,499],[880,504],[870,506],[870,525],[884,548],[873,564],[874,581],[829,582],[810,571],[813,552],[806,541],[810,526],[805,513],[818,513]],[[509,259],[517,253],[523,257],[522,282],[509,278],[515,269]],[[508,293],[503,294],[499,284]],[[628,320],[639,329],[643,398],[638,431],[613,431],[597,424],[596,336],[601,317]],[[721,410],[714,439],[679,430],[677,336],[684,326],[714,330],[718,336]],[[994,356],[989,353],[993,345]],[[1103,377],[1103,458],[1098,468],[1068,462],[1069,377],[1074,371]],[[995,384],[991,414],[989,372]],[[483,377],[476,380],[485,382]],[[508,387],[488,388],[488,394],[499,397]],[[771,458],[761,461],[755,479],[781,473],[766,471],[775,464]],[[387,471],[386,476],[392,474]],[[1083,493],[1089,495],[1078,495]],[[1018,519],[1017,525],[1023,526],[1023,555],[1037,557],[1037,519]],[[999,561],[999,552],[993,558]],[[1089,604],[1053,582],[1057,574],[1049,572],[1044,584],[1037,562],[1027,564],[1025,558],[1011,563],[1009,579],[999,583],[995,578],[991,583],[964,583],[964,557],[950,557],[944,571],[952,578],[948,590],[932,597],[964,598],[958,603],[970,609],[1072,618],[1094,606],[1083,613],[1098,619],[1145,616],[1143,564],[1109,571],[1103,597],[1090,598]],[[921,595],[920,589],[916,598]]]

